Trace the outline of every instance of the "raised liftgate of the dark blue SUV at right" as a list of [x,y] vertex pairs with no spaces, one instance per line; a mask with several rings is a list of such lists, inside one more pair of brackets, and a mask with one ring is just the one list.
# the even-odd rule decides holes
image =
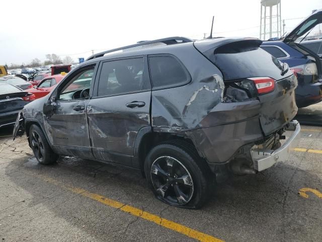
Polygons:
[[316,10],[306,19],[304,19],[299,25],[297,25],[291,32],[289,32],[283,42],[294,42],[297,38],[305,36],[305,34],[314,28],[316,25],[322,23],[322,9]]

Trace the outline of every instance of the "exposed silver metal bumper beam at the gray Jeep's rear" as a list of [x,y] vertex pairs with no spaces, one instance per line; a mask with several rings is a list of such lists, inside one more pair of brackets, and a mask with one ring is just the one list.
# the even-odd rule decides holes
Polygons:
[[255,170],[262,171],[273,166],[278,161],[285,161],[288,159],[290,152],[298,145],[301,127],[296,120],[293,120],[289,123],[289,128],[286,130],[293,131],[293,134],[280,148],[276,150],[251,150]]

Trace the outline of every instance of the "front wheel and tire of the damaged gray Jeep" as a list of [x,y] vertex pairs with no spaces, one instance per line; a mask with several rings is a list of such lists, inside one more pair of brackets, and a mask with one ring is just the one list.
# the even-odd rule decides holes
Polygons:
[[49,165],[56,162],[58,155],[50,148],[42,130],[37,125],[29,129],[31,149],[40,164]]

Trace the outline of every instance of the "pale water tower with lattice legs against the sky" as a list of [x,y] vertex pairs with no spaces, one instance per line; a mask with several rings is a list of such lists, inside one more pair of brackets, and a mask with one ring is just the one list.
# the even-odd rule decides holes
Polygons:
[[281,0],[261,0],[260,39],[281,37],[281,27]]

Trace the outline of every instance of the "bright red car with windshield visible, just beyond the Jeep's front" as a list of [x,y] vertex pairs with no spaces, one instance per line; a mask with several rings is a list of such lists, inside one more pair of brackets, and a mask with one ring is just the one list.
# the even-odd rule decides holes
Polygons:
[[38,84],[38,86],[34,86],[34,88],[30,88],[25,91],[35,94],[36,99],[44,97],[63,79],[63,77],[63,75],[46,77]]

